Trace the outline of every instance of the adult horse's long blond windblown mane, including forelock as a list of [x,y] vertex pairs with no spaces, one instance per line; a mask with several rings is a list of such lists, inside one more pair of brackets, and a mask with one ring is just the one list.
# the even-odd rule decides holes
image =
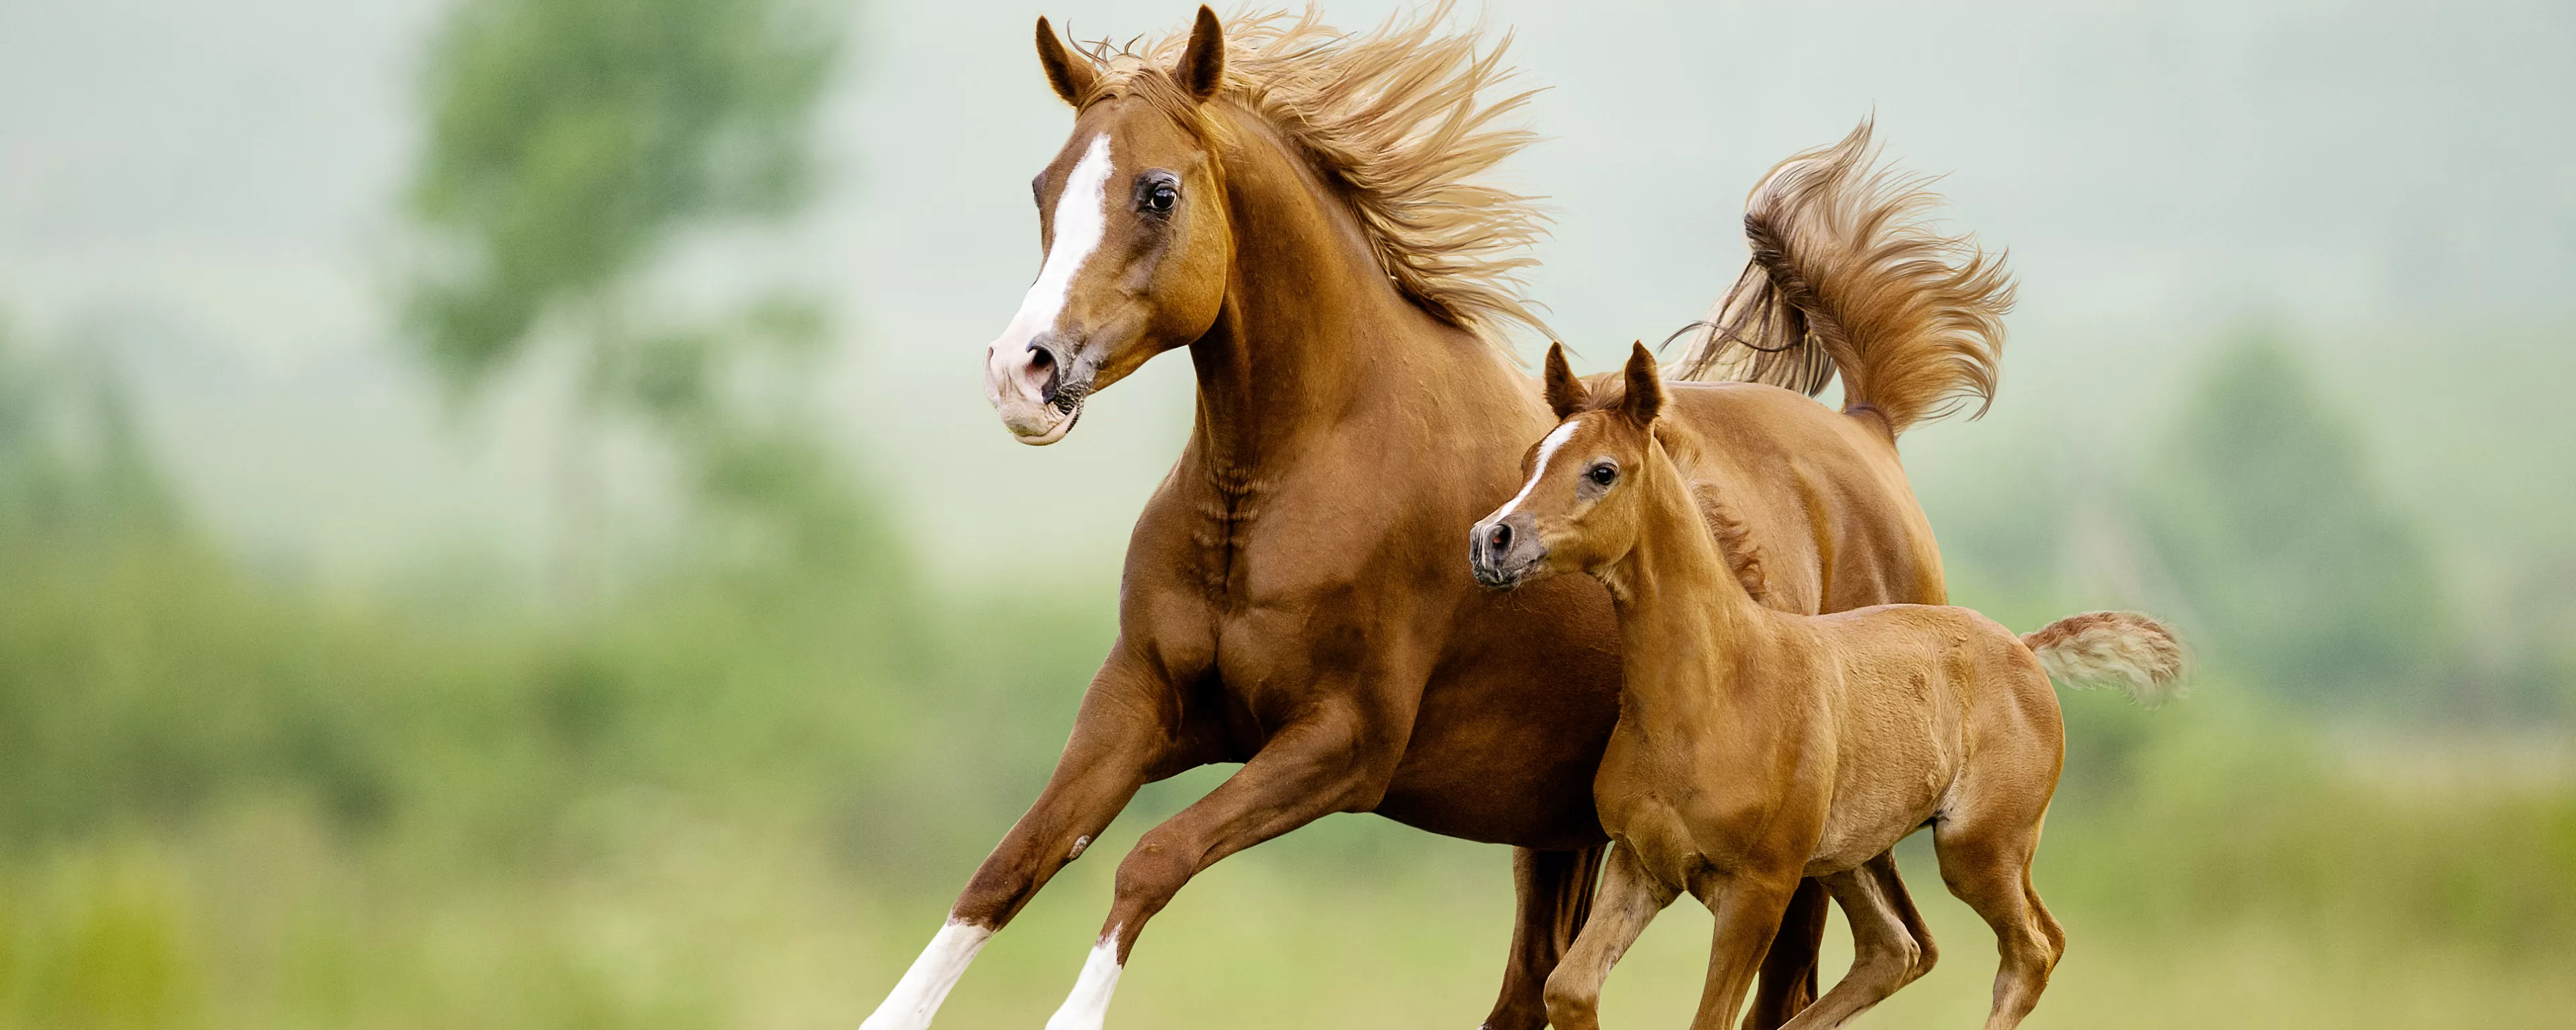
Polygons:
[[[1535,139],[1528,129],[1497,126],[1535,90],[1486,103],[1484,90],[1512,77],[1502,64],[1512,39],[1479,54],[1476,31],[1437,31],[1448,13],[1443,0],[1365,33],[1324,26],[1314,8],[1236,13],[1226,18],[1218,98],[1275,126],[1340,185],[1378,265],[1425,312],[1494,345],[1504,345],[1502,332],[1515,322],[1548,335],[1520,299],[1520,270],[1538,263],[1530,242],[1546,232],[1546,216],[1533,198],[1476,180]],[[1180,31],[1141,44],[1077,46],[1100,67],[1079,106],[1133,95],[1200,139],[1224,139],[1224,126],[1164,72],[1188,39]]]

